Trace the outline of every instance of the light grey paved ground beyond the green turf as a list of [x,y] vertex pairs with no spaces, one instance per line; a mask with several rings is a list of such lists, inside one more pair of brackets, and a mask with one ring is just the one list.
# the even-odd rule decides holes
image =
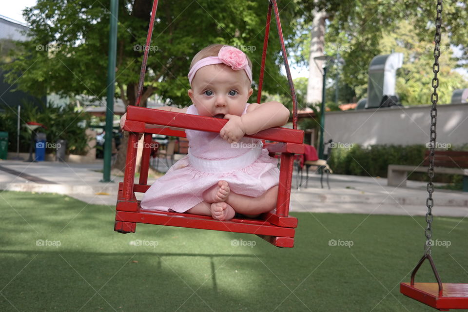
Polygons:
[[[159,162],[159,170],[166,170]],[[71,164],[0,160],[0,190],[46,192],[69,195],[86,203],[115,206],[118,182],[103,183],[102,163]],[[426,183],[408,181],[407,187],[387,186],[387,179],[364,176],[331,175],[329,190],[320,188],[320,176],[311,175],[308,188],[293,189],[292,211],[424,215]],[[154,179],[149,179],[151,184]],[[137,182],[137,179],[136,179]],[[293,183],[294,184],[294,183]],[[468,193],[437,189],[434,214],[468,216]],[[0,193],[0,203],[1,203]]]

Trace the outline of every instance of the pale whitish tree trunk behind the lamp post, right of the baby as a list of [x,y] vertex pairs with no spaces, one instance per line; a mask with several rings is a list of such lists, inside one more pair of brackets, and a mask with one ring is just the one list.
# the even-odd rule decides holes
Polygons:
[[327,14],[324,11],[313,11],[311,52],[309,55],[309,81],[307,84],[306,98],[309,104],[322,102],[323,61],[314,61],[313,58],[323,56],[326,17]]

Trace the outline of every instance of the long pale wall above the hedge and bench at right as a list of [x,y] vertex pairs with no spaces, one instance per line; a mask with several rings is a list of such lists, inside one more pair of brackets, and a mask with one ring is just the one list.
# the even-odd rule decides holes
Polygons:
[[[324,142],[410,145],[429,142],[430,105],[328,112]],[[468,143],[468,103],[438,105],[437,143]]]

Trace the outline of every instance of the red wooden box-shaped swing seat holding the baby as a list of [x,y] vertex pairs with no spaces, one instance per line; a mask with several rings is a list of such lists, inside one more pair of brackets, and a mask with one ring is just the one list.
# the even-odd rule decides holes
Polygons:
[[[213,117],[129,106],[123,128],[125,131],[129,131],[127,160],[124,181],[119,183],[115,231],[132,233],[135,232],[137,223],[147,223],[250,233],[256,234],[278,247],[293,247],[294,228],[297,227],[297,219],[289,216],[288,213],[294,154],[304,153],[304,146],[302,145],[304,132],[302,130],[276,127],[252,136],[246,136],[279,142],[265,145],[271,155],[281,153],[277,206],[275,210],[269,213],[262,214],[255,219],[233,218],[229,221],[219,221],[206,215],[141,209],[135,193],[144,193],[150,187],[147,182],[152,134],[185,137],[184,131],[170,129],[169,127],[219,133],[226,122],[225,119]],[[164,128],[146,128],[146,124],[159,125]],[[134,179],[139,134],[144,134],[144,138],[140,177],[139,182],[136,184]]]

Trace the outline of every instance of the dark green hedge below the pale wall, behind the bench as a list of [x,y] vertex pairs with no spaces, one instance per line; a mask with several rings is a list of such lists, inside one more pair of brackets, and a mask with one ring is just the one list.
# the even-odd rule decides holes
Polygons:
[[[425,145],[372,145],[363,148],[353,144],[350,149],[331,149],[329,164],[333,173],[340,175],[387,177],[389,165],[422,165],[426,150]],[[426,181],[428,177],[425,173],[413,173],[409,178]],[[447,183],[460,180],[461,176],[457,175],[436,175],[434,178],[436,182]]]

